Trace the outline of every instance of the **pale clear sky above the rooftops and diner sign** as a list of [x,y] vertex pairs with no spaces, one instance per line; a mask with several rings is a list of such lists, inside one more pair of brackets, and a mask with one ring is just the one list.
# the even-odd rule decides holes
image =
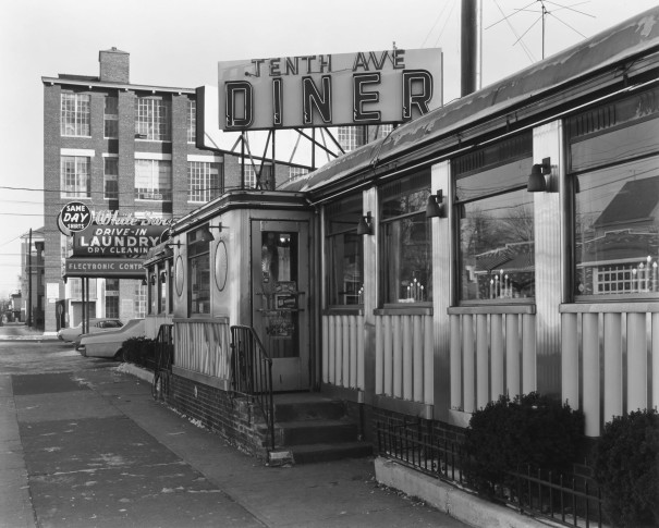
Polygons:
[[[540,0],[483,1],[487,86],[542,58]],[[20,290],[20,237],[44,225],[42,76],[98,75],[98,51],[131,59],[131,83],[217,86],[217,63],[441,48],[443,102],[460,95],[460,0],[13,0],[0,16],[0,299]],[[545,57],[656,0],[544,0]]]

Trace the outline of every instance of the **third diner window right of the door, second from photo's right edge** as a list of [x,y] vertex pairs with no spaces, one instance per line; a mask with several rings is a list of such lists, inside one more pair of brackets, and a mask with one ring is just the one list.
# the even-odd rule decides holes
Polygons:
[[535,297],[534,206],[526,191],[532,156],[529,133],[451,162],[461,302]]

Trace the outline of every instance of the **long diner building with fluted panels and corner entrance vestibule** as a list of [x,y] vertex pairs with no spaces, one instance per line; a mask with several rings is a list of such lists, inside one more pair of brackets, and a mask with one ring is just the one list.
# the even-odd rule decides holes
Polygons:
[[277,409],[236,400],[267,388],[240,356],[246,327],[276,406],[341,402],[364,443],[387,421],[454,437],[532,391],[598,437],[659,403],[658,206],[652,9],[278,191],[228,191],[176,221],[147,259],[147,320],[173,328],[160,389],[271,451],[254,438]]

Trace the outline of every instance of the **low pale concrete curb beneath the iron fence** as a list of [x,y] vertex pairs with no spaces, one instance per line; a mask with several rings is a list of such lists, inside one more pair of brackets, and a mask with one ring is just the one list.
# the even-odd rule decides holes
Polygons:
[[548,526],[546,523],[492,504],[394,461],[378,457],[374,464],[376,480],[381,484],[416,496],[467,525],[487,528],[546,528]]

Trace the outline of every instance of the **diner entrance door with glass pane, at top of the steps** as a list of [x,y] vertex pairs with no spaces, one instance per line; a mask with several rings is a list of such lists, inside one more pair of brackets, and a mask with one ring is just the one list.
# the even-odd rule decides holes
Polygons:
[[274,391],[309,389],[308,224],[252,221],[252,320]]

